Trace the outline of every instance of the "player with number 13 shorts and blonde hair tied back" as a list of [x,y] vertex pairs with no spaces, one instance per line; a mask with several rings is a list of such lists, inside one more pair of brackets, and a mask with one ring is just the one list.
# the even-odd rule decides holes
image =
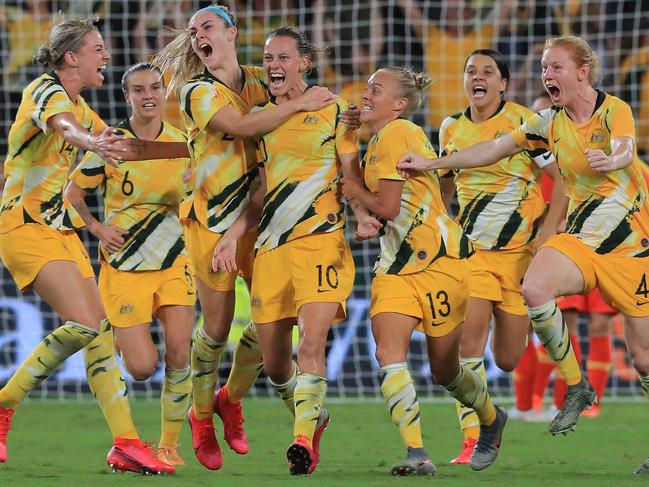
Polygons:
[[423,448],[419,403],[407,365],[415,328],[426,334],[437,382],[480,418],[480,439],[471,457],[474,470],[496,460],[507,421],[480,376],[459,363],[469,297],[467,257],[473,247],[444,209],[437,173],[404,181],[396,171],[403,151],[436,156],[423,130],[402,118],[419,109],[430,83],[428,76],[401,67],[380,69],[370,77],[361,112],[361,121],[374,134],[363,161],[367,189],[348,178],[342,186],[345,197],[386,221],[374,266],[370,316],[381,391],[408,450],[407,458],[393,465],[393,475],[435,473]]

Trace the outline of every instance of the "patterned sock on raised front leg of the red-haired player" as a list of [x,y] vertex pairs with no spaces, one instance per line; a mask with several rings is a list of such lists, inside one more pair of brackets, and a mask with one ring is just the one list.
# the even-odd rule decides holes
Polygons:
[[566,384],[572,386],[579,383],[582,377],[581,368],[570,343],[568,327],[563,321],[557,303],[552,300],[541,306],[528,308],[528,314],[534,332],[538,335],[548,355],[561,370]]

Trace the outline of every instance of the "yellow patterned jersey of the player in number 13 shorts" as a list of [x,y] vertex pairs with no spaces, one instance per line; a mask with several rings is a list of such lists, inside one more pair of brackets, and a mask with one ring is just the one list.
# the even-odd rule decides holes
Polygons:
[[421,127],[399,119],[372,137],[363,159],[370,191],[379,191],[381,179],[404,181],[399,215],[383,222],[381,255],[374,265],[377,274],[412,274],[444,255],[464,258],[473,253],[469,238],[444,209],[437,172],[408,180],[397,172],[397,162],[406,152],[437,157]]

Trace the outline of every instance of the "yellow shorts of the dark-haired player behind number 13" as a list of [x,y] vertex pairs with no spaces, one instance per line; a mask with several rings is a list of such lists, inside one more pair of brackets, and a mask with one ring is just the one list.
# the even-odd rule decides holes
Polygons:
[[512,250],[476,250],[469,258],[471,297],[492,301],[505,313],[527,316],[521,284],[531,261],[531,245]]

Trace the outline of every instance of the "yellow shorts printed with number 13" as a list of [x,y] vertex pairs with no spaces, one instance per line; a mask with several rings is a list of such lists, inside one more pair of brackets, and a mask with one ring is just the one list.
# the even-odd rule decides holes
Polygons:
[[421,321],[431,337],[448,335],[464,321],[471,271],[467,259],[440,257],[414,274],[378,274],[372,280],[370,317],[399,313]]

